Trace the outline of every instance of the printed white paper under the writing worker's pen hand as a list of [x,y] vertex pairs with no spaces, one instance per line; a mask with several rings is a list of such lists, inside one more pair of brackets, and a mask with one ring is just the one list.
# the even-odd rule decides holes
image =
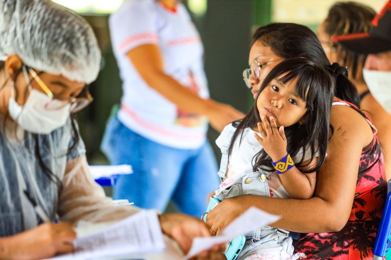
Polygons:
[[98,259],[165,248],[159,220],[153,210],[141,211],[125,220],[73,241],[75,253],[56,260]]

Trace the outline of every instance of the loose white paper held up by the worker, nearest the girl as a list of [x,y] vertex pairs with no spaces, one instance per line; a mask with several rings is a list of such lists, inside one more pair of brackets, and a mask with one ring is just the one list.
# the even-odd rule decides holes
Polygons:
[[194,257],[215,244],[230,241],[239,235],[248,234],[258,227],[273,223],[279,218],[279,216],[269,214],[256,207],[251,207],[226,226],[221,232],[221,235],[207,238],[195,238],[186,259]]

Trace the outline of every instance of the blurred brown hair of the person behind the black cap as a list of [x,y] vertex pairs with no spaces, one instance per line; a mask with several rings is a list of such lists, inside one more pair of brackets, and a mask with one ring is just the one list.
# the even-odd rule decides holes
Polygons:
[[[337,2],[328,10],[324,21],[325,33],[330,38],[334,35],[368,33],[375,15],[375,10],[364,4]],[[348,67],[351,79],[365,82],[362,72],[367,55],[349,51],[340,44],[333,43],[330,47],[335,49],[338,62]]]

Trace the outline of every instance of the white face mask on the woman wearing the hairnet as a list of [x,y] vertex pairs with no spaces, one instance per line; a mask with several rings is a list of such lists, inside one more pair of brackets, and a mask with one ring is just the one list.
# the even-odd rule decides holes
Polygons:
[[[46,94],[31,89],[26,103],[20,106],[12,95],[8,104],[9,114],[24,130],[35,134],[49,134],[65,125],[70,114],[69,103],[64,105],[64,101],[50,100]],[[46,109],[45,104],[49,101],[51,105],[61,108]]]

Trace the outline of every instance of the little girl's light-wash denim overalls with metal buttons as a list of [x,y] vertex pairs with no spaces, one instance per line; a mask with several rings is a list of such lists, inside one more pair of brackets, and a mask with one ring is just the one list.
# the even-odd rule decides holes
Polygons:
[[[221,180],[226,178],[228,167],[228,149],[234,131],[229,132],[221,146],[221,163],[218,176]],[[257,172],[245,174],[235,180],[228,187],[216,190],[217,199],[225,200],[240,195],[258,195],[270,197],[268,176],[270,172],[258,169]],[[250,234],[245,234],[246,242],[241,250],[238,259],[245,259],[249,255],[259,253],[263,257],[272,255],[272,259],[290,259],[293,254],[292,238],[289,231],[270,226],[262,226]],[[271,252],[273,251],[273,252]],[[270,253],[270,254],[269,254]],[[273,257],[274,256],[274,257]]]

